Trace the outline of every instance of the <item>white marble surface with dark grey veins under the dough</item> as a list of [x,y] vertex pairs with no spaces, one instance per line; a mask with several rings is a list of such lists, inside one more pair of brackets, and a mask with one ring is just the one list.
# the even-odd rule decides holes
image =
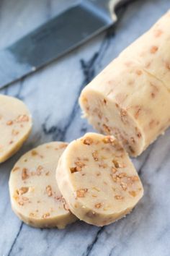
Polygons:
[[[1,0],[0,48],[53,17],[70,1]],[[0,166],[0,256],[170,255],[170,129],[133,161],[145,196],[133,213],[112,225],[97,228],[77,221],[62,231],[32,229],[12,213],[8,191],[10,170],[22,153],[42,142],[71,141],[91,130],[80,118],[81,88],[169,8],[169,0],[135,1],[123,10],[115,31],[102,33],[0,91],[21,98],[34,119],[30,139]]]

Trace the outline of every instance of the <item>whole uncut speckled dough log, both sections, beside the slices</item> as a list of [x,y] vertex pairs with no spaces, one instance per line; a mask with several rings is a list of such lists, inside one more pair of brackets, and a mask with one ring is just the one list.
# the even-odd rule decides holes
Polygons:
[[99,132],[140,155],[170,125],[170,12],[84,88],[79,103]]

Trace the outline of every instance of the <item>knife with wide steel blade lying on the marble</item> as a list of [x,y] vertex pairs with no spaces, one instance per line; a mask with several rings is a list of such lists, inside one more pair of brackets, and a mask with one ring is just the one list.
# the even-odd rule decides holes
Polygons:
[[0,88],[63,56],[117,21],[128,0],[81,0],[0,51]]

